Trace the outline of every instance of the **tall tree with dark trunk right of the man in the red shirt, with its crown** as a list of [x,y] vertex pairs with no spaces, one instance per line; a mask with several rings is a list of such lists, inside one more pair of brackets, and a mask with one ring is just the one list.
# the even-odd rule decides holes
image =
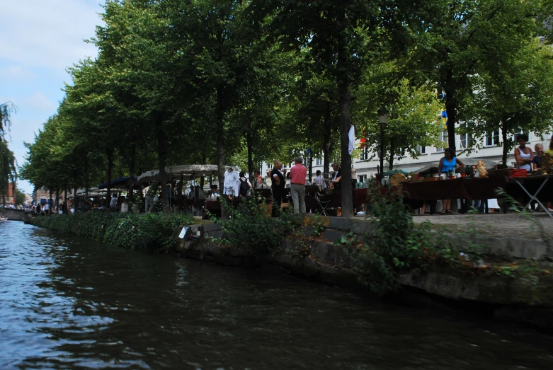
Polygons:
[[[272,0],[251,4],[258,23],[268,27],[269,40],[280,41],[287,49],[306,50],[316,61],[319,74],[328,75],[336,83],[342,168],[351,167],[348,152],[351,88],[358,82],[363,65],[370,63],[372,53],[382,50],[384,45],[391,47],[391,40],[405,40],[409,22],[405,16],[411,13],[411,5],[407,1],[402,1],[399,7],[392,1],[363,0]],[[401,49],[404,45],[406,42],[394,43],[392,47]],[[345,217],[353,216],[350,180],[350,170],[344,170],[342,216]]]

